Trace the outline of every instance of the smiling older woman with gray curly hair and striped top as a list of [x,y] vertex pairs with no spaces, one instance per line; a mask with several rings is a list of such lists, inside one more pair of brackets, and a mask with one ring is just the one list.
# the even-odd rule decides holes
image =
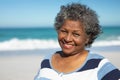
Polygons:
[[102,32],[95,11],[72,3],[55,19],[61,51],[46,57],[35,80],[118,80],[120,71],[106,58],[86,50]]

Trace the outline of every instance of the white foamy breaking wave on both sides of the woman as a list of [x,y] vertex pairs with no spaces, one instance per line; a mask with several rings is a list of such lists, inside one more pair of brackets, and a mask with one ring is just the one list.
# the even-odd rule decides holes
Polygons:
[[[120,46],[120,40],[96,41],[93,47]],[[0,51],[10,50],[35,50],[60,48],[56,40],[24,39],[13,38],[8,41],[0,42]]]

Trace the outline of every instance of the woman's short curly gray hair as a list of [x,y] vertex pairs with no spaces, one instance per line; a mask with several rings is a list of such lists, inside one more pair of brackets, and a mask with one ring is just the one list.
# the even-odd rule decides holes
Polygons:
[[74,21],[79,20],[83,23],[86,34],[89,36],[89,41],[86,44],[86,47],[90,47],[94,40],[102,32],[96,12],[86,5],[72,3],[66,6],[61,6],[60,12],[55,18],[55,29],[59,30],[66,19]]

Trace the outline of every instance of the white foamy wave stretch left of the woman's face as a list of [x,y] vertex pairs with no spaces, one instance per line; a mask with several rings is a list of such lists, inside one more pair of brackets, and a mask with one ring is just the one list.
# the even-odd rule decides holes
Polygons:
[[39,40],[39,39],[25,39],[19,40],[17,38],[9,41],[0,42],[0,51],[8,50],[35,50],[58,48],[58,42],[55,40]]

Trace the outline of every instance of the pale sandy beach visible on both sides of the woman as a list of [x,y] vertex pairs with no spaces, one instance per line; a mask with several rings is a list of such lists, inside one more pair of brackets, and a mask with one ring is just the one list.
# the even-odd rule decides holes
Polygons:
[[[46,50],[45,50],[46,51]],[[43,53],[45,51],[42,51]],[[18,52],[18,51],[17,51]],[[31,53],[35,54],[31,54]],[[0,56],[0,80],[33,80],[39,70],[39,65],[44,55],[37,54],[41,51],[19,51],[22,55]],[[3,52],[0,52],[1,54]],[[4,54],[7,52],[4,52]],[[15,53],[11,51],[10,53]],[[30,55],[23,53],[30,53]],[[120,52],[99,52],[107,57],[117,68],[120,69]]]

